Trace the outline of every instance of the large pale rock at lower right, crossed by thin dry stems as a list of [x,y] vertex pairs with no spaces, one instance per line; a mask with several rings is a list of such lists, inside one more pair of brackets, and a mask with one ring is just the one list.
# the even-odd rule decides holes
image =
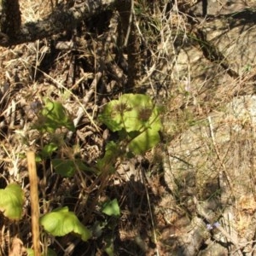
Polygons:
[[[252,220],[256,202],[250,195],[255,187],[255,127],[256,96],[238,96],[222,111],[210,113],[206,119],[189,127],[168,146],[169,166],[164,174],[166,185],[189,212],[195,212],[195,207],[198,207],[195,203],[191,209],[189,197],[197,198],[203,212],[197,211],[201,218],[196,223],[200,224],[193,224],[194,218],[190,224],[200,238],[195,234],[190,236],[187,231],[179,238],[180,242],[183,241],[183,255],[195,255],[195,243],[199,241],[194,242],[193,239],[200,239],[201,243],[206,241],[206,236],[202,235],[206,230],[205,216],[209,224],[222,220],[221,225],[227,233],[222,234],[219,242],[228,244],[231,239],[237,241],[236,247],[240,247],[253,241],[256,224]],[[241,201],[241,195],[247,197]],[[250,223],[246,226],[246,233],[241,229],[245,219]],[[236,250],[236,247],[230,250]],[[226,255],[226,249],[212,245],[202,255]],[[189,254],[189,251],[193,253]],[[237,255],[241,255],[239,252]]]

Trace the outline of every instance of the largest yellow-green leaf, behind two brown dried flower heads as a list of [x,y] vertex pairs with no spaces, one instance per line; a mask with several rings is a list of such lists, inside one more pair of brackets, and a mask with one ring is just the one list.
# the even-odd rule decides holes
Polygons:
[[143,154],[160,142],[162,129],[159,109],[150,97],[143,94],[124,94],[119,100],[109,102],[100,120],[111,131],[119,131],[120,139],[130,141],[132,154]]

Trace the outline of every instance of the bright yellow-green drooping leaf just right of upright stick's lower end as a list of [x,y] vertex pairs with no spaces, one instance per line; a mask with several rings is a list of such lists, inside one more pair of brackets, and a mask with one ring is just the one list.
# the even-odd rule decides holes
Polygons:
[[53,212],[46,213],[40,218],[40,224],[52,236],[66,236],[74,233],[87,241],[91,232],[79,222],[74,212],[69,212],[68,207],[57,208]]

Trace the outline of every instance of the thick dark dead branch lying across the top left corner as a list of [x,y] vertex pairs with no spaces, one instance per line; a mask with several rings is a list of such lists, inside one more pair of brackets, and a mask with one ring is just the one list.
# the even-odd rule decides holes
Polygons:
[[79,21],[111,8],[116,0],[86,0],[76,1],[70,9],[56,8],[44,20],[27,22],[15,32],[15,37],[9,33],[0,33],[0,46],[8,47],[16,44],[32,42],[37,39],[48,38],[59,32],[72,30]]

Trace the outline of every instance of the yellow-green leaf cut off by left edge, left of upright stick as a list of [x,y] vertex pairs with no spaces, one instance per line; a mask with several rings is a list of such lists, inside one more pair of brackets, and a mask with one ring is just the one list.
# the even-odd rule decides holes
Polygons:
[[18,184],[9,184],[0,189],[0,211],[9,219],[20,219],[24,203],[24,192]]

